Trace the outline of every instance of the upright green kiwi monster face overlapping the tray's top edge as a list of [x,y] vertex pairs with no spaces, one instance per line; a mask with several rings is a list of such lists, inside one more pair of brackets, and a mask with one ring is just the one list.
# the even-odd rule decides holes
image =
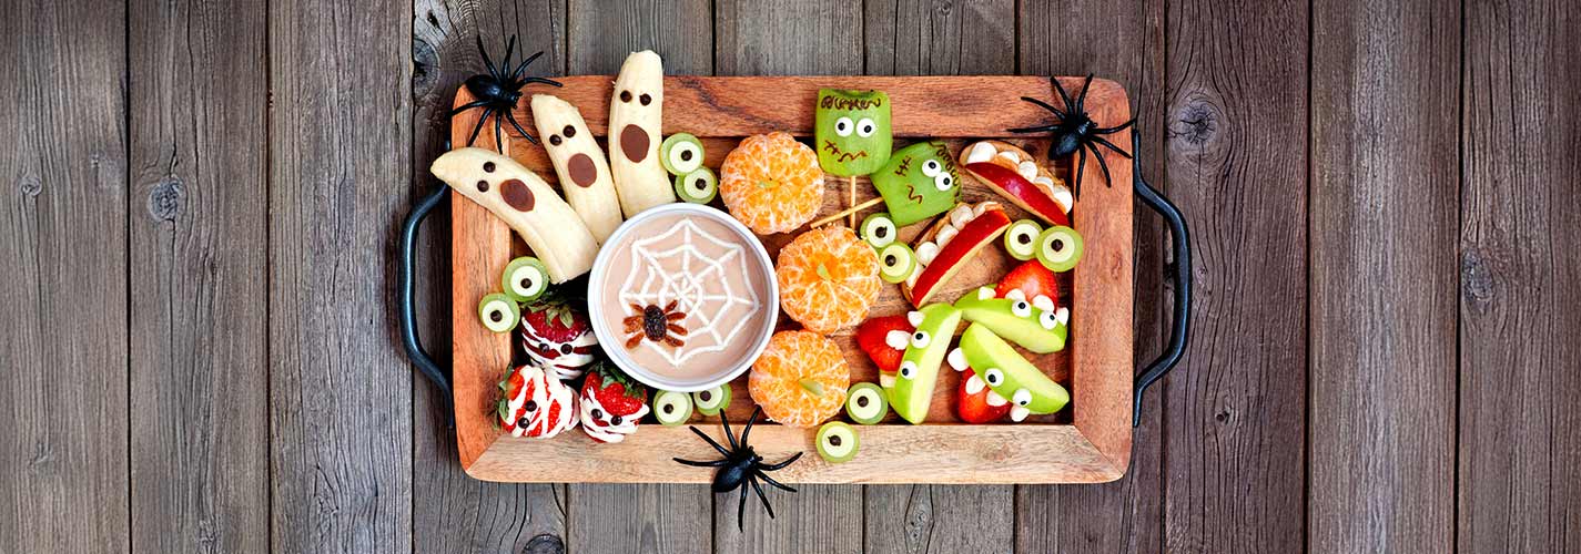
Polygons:
[[889,95],[881,90],[817,92],[817,164],[840,177],[868,175],[889,161]]

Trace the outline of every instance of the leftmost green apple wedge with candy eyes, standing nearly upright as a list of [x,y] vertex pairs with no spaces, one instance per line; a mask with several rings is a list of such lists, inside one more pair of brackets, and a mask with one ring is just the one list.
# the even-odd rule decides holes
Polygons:
[[961,311],[938,303],[922,306],[906,317],[917,330],[907,339],[906,354],[901,355],[900,368],[895,371],[898,379],[889,393],[895,414],[915,425],[928,417],[933,385],[939,382],[939,366],[950,350],[955,328],[961,325]]

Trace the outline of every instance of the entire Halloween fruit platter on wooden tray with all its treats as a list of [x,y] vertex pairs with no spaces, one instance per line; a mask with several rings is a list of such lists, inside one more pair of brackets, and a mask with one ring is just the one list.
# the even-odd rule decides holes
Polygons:
[[768,508],[787,483],[1126,472],[1118,84],[484,58],[432,164],[455,199],[455,360],[419,360],[454,384],[470,475],[713,483]]

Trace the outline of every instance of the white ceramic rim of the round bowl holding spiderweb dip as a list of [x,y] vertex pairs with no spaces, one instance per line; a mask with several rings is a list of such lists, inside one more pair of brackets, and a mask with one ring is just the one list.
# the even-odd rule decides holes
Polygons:
[[[648,219],[677,213],[707,218],[721,223],[734,234],[737,234],[741,238],[741,243],[746,246],[748,253],[746,256],[754,259],[762,268],[764,271],[762,278],[767,289],[767,290],[756,290],[760,311],[757,313],[757,317],[753,317],[748,322],[748,325],[757,325],[760,331],[746,333],[741,338],[753,341],[746,354],[735,363],[724,368],[715,368],[715,371],[707,371],[702,377],[697,379],[667,377],[656,374],[648,368],[639,365],[631,358],[631,355],[623,347],[623,344],[626,343],[626,336],[621,333],[620,328],[613,328],[610,325],[610,320],[604,317],[604,298],[607,294],[617,294],[615,289],[620,286],[620,283],[609,283],[610,278],[610,275],[607,273],[609,264],[610,259],[613,259],[617,254],[617,248],[612,248],[612,245],[623,243],[626,240],[626,235],[637,232],[637,227],[642,227],[642,224]],[[620,254],[624,253],[626,249],[620,249]],[[773,336],[775,333],[775,322],[779,319],[779,283],[778,279],[775,279],[775,264],[773,260],[768,259],[768,251],[764,249],[762,241],[759,241],[757,237],[753,235],[753,232],[748,230],[746,226],[743,226],[740,221],[735,221],[735,218],[726,215],[724,211],[700,204],[686,204],[686,202],[666,204],[642,211],[636,218],[626,219],[624,223],[620,224],[620,227],[615,229],[613,234],[609,235],[609,240],[604,241],[604,248],[599,248],[598,257],[593,259],[593,271],[588,275],[588,319],[593,324],[593,335],[598,336],[599,346],[604,349],[604,354],[609,355],[610,361],[613,361],[615,366],[618,366],[628,376],[658,390],[670,390],[680,393],[708,390],[727,384],[735,377],[740,377],[743,372],[746,372],[748,368],[753,366],[753,361],[757,361],[757,357],[764,352],[764,347],[768,346],[768,338]]]

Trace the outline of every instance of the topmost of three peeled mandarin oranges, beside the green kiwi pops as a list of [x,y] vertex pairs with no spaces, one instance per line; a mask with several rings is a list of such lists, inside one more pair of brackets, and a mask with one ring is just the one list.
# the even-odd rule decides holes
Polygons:
[[754,134],[724,156],[719,196],[753,232],[787,232],[811,221],[824,205],[824,170],[817,153],[790,134]]

